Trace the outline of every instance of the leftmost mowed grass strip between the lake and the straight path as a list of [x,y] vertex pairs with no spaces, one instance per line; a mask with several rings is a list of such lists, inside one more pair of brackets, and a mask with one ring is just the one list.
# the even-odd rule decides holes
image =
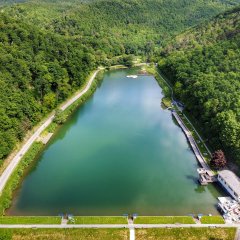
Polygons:
[[0,224],[60,224],[61,217],[1,216]]

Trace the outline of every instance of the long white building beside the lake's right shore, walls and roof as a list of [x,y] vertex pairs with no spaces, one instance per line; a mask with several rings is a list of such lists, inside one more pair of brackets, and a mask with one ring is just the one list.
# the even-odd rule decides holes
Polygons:
[[236,201],[240,202],[240,180],[229,170],[219,171],[218,181]]

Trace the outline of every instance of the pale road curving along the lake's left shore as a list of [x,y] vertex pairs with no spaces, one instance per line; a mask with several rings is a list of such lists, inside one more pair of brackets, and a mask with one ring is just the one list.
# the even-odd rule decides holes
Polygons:
[[[76,96],[73,98],[69,99],[65,104],[62,105],[61,109],[65,110],[67,107],[69,107],[73,102],[75,102],[78,98],[80,98],[84,93],[88,91],[90,88],[91,84],[93,83],[94,78],[98,74],[100,70],[96,70],[91,78],[89,79],[86,87],[78,93]],[[7,168],[4,170],[2,175],[0,176],[0,192],[4,189],[9,177],[11,176],[13,170],[16,168],[18,163],[20,162],[22,156],[28,151],[30,146],[33,144],[33,142],[39,137],[41,132],[50,125],[50,123],[54,119],[54,114],[52,114],[34,133],[33,135],[28,139],[28,141],[23,145],[23,147],[17,152],[15,157],[12,159],[10,164],[7,166]]]

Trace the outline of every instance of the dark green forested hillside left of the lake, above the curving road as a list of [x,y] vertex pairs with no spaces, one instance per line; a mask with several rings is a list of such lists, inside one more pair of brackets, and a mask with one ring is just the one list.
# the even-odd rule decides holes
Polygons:
[[0,16],[0,159],[71,93],[95,62],[81,43]]

